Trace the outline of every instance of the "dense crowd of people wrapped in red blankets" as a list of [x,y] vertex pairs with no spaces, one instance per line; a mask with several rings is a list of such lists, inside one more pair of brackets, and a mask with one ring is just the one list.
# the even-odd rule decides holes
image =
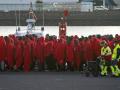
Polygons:
[[[49,34],[39,38],[36,35],[0,36],[0,63],[4,61],[5,70],[8,71],[23,70],[28,72],[32,71],[36,64],[38,64],[40,71],[45,69],[64,71],[66,66],[70,71],[81,71],[82,65],[87,61],[95,61],[99,56],[107,55],[103,53],[103,49],[103,51],[101,50],[105,45],[109,46],[111,50],[109,61],[112,61],[115,44],[117,42],[118,45],[119,41],[119,35],[115,37],[112,35],[91,35],[80,38],[66,36],[60,39]],[[118,57],[114,57],[114,59]],[[115,65],[119,69],[119,61]],[[100,67],[101,74],[105,74],[106,65]],[[115,72],[115,69],[112,69],[112,72]]]

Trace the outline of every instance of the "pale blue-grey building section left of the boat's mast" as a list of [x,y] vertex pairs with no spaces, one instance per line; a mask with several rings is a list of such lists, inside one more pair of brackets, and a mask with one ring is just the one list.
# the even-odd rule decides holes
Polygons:
[[[36,0],[0,0],[0,11],[29,10],[30,2],[35,4]],[[33,7],[35,9],[35,7]]]

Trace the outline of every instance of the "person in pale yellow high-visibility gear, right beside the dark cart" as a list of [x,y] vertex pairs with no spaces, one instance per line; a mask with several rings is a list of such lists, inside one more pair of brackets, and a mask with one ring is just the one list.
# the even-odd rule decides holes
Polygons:
[[110,67],[112,69],[112,66],[111,66],[112,51],[106,41],[102,41],[100,45],[102,46],[101,57],[103,58],[101,61],[102,63],[100,65],[101,75],[107,75],[108,74],[107,68]]

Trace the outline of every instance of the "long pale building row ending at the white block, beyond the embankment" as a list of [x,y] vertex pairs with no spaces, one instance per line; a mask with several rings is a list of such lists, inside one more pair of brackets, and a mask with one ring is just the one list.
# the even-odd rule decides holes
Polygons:
[[69,11],[83,11],[83,12],[93,11],[92,9],[93,3],[88,0],[82,1],[81,3],[76,2],[41,3],[42,0],[37,1],[29,0],[29,2],[25,2],[26,0],[13,0],[13,3],[11,3],[10,1],[12,0],[8,0],[8,2],[5,3],[1,2],[0,0],[0,11],[4,12],[15,10],[27,11],[29,10],[30,7],[30,1],[32,1],[33,10],[39,11],[42,9],[47,11],[63,11],[64,9],[67,9]]

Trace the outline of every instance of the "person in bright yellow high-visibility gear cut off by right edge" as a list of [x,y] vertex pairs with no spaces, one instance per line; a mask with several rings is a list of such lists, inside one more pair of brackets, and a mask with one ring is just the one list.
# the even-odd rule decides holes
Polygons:
[[114,72],[115,76],[120,76],[120,69],[118,68],[117,63],[120,61],[120,41],[115,41],[114,49],[112,54],[112,72]]

